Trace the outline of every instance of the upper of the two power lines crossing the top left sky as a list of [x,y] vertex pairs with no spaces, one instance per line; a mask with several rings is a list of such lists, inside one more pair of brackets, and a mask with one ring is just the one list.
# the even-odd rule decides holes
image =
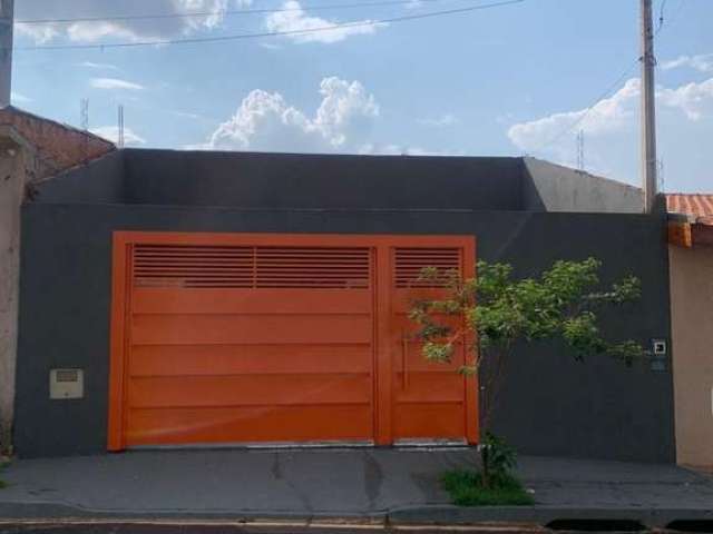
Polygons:
[[[445,0],[419,0],[420,2],[442,2]],[[64,19],[20,19],[16,20],[16,24],[49,24],[49,23],[75,23],[75,22],[100,22],[116,20],[152,20],[152,19],[182,19],[192,17],[213,17],[233,16],[233,14],[266,14],[266,13],[284,13],[294,11],[326,11],[339,9],[358,9],[358,8],[377,8],[388,6],[406,6],[412,4],[413,0],[380,0],[371,2],[353,2],[353,3],[333,3],[322,6],[300,6],[299,8],[274,8],[274,9],[234,9],[224,11],[186,11],[183,13],[148,13],[148,14],[116,14],[101,17],[72,17]]]

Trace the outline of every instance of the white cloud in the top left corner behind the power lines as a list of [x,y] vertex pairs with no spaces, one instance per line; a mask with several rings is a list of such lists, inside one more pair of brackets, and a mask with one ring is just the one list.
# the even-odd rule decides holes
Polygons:
[[[17,20],[45,20],[71,18],[121,17],[133,14],[166,13],[184,17],[159,19],[92,20],[23,24],[16,22],[18,34],[37,43],[46,43],[59,37],[72,41],[94,42],[106,37],[127,40],[167,39],[199,30],[212,30],[223,22],[227,9],[247,7],[252,0],[23,0],[16,2]],[[207,13],[185,16],[189,13]]]

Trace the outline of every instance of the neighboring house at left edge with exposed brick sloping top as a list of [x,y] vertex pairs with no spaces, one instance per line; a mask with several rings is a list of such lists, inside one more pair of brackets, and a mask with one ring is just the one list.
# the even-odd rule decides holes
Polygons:
[[20,205],[42,181],[110,150],[114,145],[86,131],[0,109],[0,448],[13,417]]

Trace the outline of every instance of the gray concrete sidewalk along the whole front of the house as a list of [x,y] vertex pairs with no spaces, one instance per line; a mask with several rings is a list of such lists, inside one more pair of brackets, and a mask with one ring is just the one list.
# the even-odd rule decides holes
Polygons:
[[0,517],[349,517],[393,523],[713,520],[713,477],[672,465],[521,457],[536,506],[458,508],[439,474],[467,449],[160,451],[18,461]]

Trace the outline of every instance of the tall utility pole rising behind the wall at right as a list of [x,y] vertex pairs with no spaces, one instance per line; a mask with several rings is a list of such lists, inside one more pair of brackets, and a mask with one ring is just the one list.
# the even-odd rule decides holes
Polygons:
[[654,88],[654,22],[652,0],[642,2],[642,186],[644,212],[651,214],[656,201],[656,102]]

